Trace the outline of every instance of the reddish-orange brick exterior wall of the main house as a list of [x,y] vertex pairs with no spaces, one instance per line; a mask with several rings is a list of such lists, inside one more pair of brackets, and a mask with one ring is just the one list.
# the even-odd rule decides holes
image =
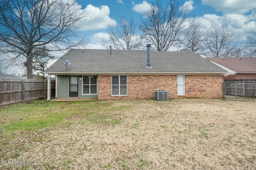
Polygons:
[[[111,75],[98,75],[98,99],[150,99],[155,90],[167,90],[169,98],[222,98],[222,75],[185,75],[185,96],[177,95],[177,75],[128,75],[128,95],[111,96]],[[106,95],[106,96],[105,96]]]

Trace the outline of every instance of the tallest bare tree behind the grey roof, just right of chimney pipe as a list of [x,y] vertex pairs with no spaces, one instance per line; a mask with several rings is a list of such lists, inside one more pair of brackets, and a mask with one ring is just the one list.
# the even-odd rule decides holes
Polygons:
[[188,17],[188,6],[182,0],[170,0],[163,5],[161,0],[152,3],[141,18],[140,29],[147,35],[157,51],[167,51],[176,45],[184,21]]

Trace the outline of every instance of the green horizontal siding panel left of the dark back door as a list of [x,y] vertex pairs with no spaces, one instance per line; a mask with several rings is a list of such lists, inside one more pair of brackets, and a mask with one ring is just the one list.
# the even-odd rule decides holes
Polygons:
[[69,76],[57,75],[57,98],[68,98]]

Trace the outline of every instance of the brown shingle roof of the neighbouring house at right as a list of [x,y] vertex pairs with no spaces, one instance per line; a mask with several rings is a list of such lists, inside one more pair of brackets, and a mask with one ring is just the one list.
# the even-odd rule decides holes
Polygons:
[[[234,73],[256,73],[256,58],[241,57],[241,58],[206,58],[216,64],[220,64],[226,68],[233,70]],[[219,66],[220,66],[219,65]],[[223,67],[223,68],[224,68]],[[225,68],[224,68],[225,69]],[[228,69],[225,69],[228,70]]]

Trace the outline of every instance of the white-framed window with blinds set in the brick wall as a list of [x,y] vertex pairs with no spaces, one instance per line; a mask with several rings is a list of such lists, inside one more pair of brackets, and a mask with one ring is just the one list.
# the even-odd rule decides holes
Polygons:
[[112,76],[112,96],[127,95],[127,76]]

